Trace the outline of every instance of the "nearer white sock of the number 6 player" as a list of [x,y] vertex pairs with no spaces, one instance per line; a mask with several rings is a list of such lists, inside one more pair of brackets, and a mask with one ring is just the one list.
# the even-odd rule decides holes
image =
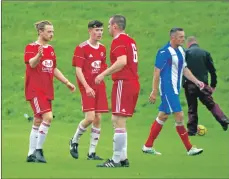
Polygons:
[[120,162],[121,153],[126,143],[126,129],[125,128],[116,128],[113,140],[113,157],[112,160],[115,163]]

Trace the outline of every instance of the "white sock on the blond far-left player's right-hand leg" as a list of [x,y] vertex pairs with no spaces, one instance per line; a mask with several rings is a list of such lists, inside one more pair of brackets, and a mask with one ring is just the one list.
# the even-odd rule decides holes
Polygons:
[[36,149],[42,149],[45,142],[46,136],[48,134],[50,124],[43,121],[39,127],[38,139]]

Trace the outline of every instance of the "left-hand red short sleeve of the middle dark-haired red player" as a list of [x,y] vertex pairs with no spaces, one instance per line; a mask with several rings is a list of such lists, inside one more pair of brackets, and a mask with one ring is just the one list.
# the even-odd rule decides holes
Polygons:
[[74,56],[72,58],[72,66],[82,68],[84,64],[84,60],[85,60],[84,50],[81,47],[77,46],[74,51]]

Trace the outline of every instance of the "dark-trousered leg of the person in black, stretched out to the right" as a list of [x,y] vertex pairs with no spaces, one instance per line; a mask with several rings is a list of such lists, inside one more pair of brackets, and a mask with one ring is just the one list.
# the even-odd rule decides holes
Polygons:
[[199,95],[200,101],[207,107],[207,109],[212,113],[215,119],[220,123],[223,130],[228,129],[229,119],[225,116],[218,104],[214,102],[212,97],[212,92],[209,86],[206,86]]

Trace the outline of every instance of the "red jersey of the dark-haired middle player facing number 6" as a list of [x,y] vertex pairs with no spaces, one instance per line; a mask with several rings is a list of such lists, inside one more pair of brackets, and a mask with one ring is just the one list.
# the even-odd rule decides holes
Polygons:
[[[81,43],[75,48],[72,66],[82,68],[88,85],[93,87],[95,77],[107,68],[105,46],[99,43],[98,47],[94,47],[88,41]],[[82,88],[83,85],[78,78],[77,82]]]

